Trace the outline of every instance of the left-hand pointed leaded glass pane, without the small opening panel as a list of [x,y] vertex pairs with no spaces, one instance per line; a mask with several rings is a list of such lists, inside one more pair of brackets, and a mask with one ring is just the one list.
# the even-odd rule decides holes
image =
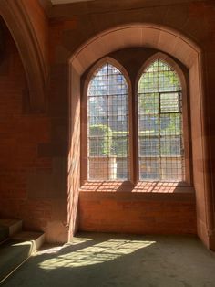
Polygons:
[[88,180],[128,180],[128,84],[110,63],[87,88]]

